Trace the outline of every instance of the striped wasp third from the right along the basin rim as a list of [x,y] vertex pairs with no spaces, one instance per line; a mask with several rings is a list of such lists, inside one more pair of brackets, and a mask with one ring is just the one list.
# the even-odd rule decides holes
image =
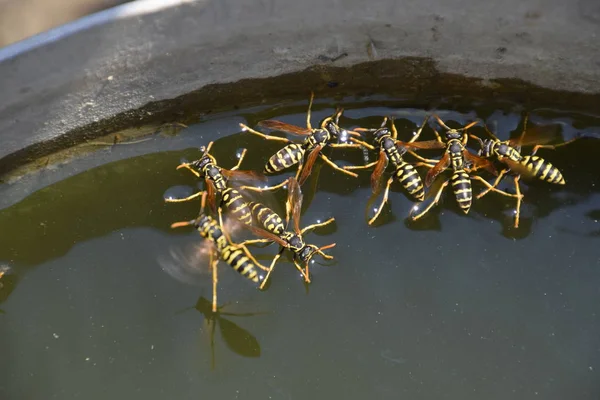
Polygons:
[[[419,131],[413,136],[413,138],[406,143],[414,142],[423,127],[427,123],[428,118],[425,119],[423,125],[419,128]],[[385,186],[385,191],[383,193],[383,199],[379,207],[376,208],[375,215],[369,220],[369,225],[372,225],[375,220],[381,214],[383,206],[388,200],[388,195],[390,191],[390,186],[394,182],[394,180],[400,182],[404,189],[411,195],[411,197],[417,201],[423,201],[425,198],[425,190],[423,187],[423,182],[421,181],[421,177],[419,173],[415,169],[415,167],[406,162],[402,156],[407,152],[405,146],[400,146],[400,144],[405,144],[404,142],[400,142],[398,140],[398,131],[396,130],[396,126],[394,125],[394,119],[390,118],[391,128],[387,128],[388,118],[384,118],[381,126],[378,129],[364,129],[364,128],[356,128],[354,131],[357,132],[371,132],[373,134],[373,139],[375,143],[379,145],[379,158],[377,161],[374,161],[367,165],[360,166],[346,166],[344,169],[348,170],[357,170],[357,169],[367,169],[375,166],[373,173],[371,174],[371,189],[373,192],[373,197],[379,194],[381,189],[381,177],[383,176],[383,172],[385,171],[389,162],[394,166],[394,172],[392,176],[388,179],[387,184]],[[352,138],[351,140],[353,140]],[[362,143],[362,142],[361,142]],[[371,146],[367,143],[362,143],[363,146],[370,150],[375,150],[374,146]],[[416,165],[421,165],[422,163],[417,163]],[[428,165],[428,164],[427,164]],[[367,207],[369,209],[370,207]]]

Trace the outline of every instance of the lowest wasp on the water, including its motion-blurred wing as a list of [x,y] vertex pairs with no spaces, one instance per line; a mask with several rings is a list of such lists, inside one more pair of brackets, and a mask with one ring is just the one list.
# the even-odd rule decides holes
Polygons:
[[202,236],[204,240],[195,249],[191,259],[188,258],[182,260],[181,257],[171,253],[174,260],[163,260],[161,261],[161,265],[164,270],[172,275],[179,274],[181,268],[196,272],[195,269],[198,268],[205,261],[204,258],[208,256],[212,272],[212,310],[213,312],[216,312],[218,283],[217,264],[219,260],[225,261],[244,278],[256,284],[263,281],[263,273],[264,271],[268,271],[268,268],[262,266],[243,243],[233,243],[231,241],[229,231],[236,227],[235,224],[239,224],[236,220],[228,219],[228,223],[224,225],[220,212],[219,221],[216,221],[213,217],[204,212],[207,195],[207,192],[202,193],[201,211],[198,218],[191,221],[175,222],[171,225],[171,228],[191,225],[200,233],[200,236]]

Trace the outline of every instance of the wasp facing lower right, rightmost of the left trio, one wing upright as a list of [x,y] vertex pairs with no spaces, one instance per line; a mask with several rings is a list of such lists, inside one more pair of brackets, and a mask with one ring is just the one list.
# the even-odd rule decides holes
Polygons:
[[[300,229],[300,211],[302,209],[302,191],[300,189],[300,184],[295,177],[290,177],[288,180],[286,180],[286,183],[288,186],[288,199],[286,201],[286,224],[289,223],[289,216],[291,214],[294,220],[294,230],[286,230],[286,226],[283,224],[283,220],[281,219],[281,217],[275,211],[271,210],[270,208],[261,203],[253,203],[251,209],[255,219],[264,229],[257,229],[256,227],[246,226],[247,228],[252,230],[257,236],[263,237],[263,239],[247,240],[243,242],[243,244],[247,245],[255,243],[276,242],[281,246],[281,249],[271,262],[265,279],[262,281],[261,289],[267,283],[267,280],[269,279],[269,276],[273,271],[275,264],[277,263],[285,249],[288,249],[293,253],[294,265],[296,266],[296,269],[300,271],[300,274],[303,276],[304,281],[307,283],[310,283],[308,266],[310,260],[315,254],[319,254],[326,260],[333,259],[333,256],[325,254],[323,250],[327,250],[334,247],[335,243],[323,247],[317,247],[313,244],[307,244],[304,241],[303,235],[306,232],[311,231],[315,228],[320,228],[333,223],[335,221],[335,218],[330,218],[325,222],[319,222],[316,224],[306,226],[303,229]],[[302,268],[298,264],[298,260],[304,263],[304,268]]]

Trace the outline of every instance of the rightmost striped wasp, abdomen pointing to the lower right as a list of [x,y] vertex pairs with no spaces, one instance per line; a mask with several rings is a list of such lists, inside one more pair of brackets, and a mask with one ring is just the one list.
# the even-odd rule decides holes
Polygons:
[[[483,124],[483,127],[491,137],[490,139],[482,140],[475,135],[470,135],[472,138],[478,140],[479,144],[481,145],[481,150],[479,150],[480,156],[485,158],[494,158],[503,163],[506,167],[500,171],[491,187],[488,187],[486,190],[479,193],[476,198],[480,199],[485,196],[490,192],[490,190],[492,190],[492,187],[495,188],[500,184],[507,173],[512,172],[516,194],[506,193],[504,191],[500,191],[500,193],[504,196],[514,197],[517,199],[514,222],[515,228],[519,227],[521,202],[523,201],[523,194],[521,193],[521,187],[519,184],[521,176],[536,178],[558,185],[565,184],[565,178],[558,168],[543,158],[536,156],[535,154],[537,151],[542,148],[555,149],[577,140],[577,138],[574,138],[557,145],[540,144],[541,142],[548,141],[550,139],[550,135],[543,134],[544,132],[539,129],[527,130],[527,119],[528,115],[525,115],[523,119],[523,131],[521,132],[521,135],[515,139],[500,140],[488,129],[485,124]],[[545,132],[548,133],[548,131]],[[534,148],[530,155],[523,156],[521,154],[521,147],[527,145],[534,145]]]

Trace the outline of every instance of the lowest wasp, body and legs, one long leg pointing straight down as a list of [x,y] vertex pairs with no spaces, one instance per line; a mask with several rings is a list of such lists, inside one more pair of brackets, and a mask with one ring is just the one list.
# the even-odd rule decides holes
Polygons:
[[[244,278],[256,284],[263,281],[264,276],[262,275],[262,272],[267,271],[268,268],[262,266],[243,243],[236,244],[231,241],[231,238],[227,233],[229,230],[228,227],[223,226],[221,213],[219,213],[219,221],[217,221],[204,212],[206,198],[207,192],[203,192],[201,211],[198,218],[191,221],[175,222],[171,225],[171,228],[192,225],[200,233],[200,236],[205,239],[198,248],[198,255],[203,256],[208,253],[210,258],[213,284],[212,309],[213,312],[216,312],[218,283],[217,264],[219,260],[225,261]],[[166,269],[172,269],[172,267],[168,265],[165,267]]]

